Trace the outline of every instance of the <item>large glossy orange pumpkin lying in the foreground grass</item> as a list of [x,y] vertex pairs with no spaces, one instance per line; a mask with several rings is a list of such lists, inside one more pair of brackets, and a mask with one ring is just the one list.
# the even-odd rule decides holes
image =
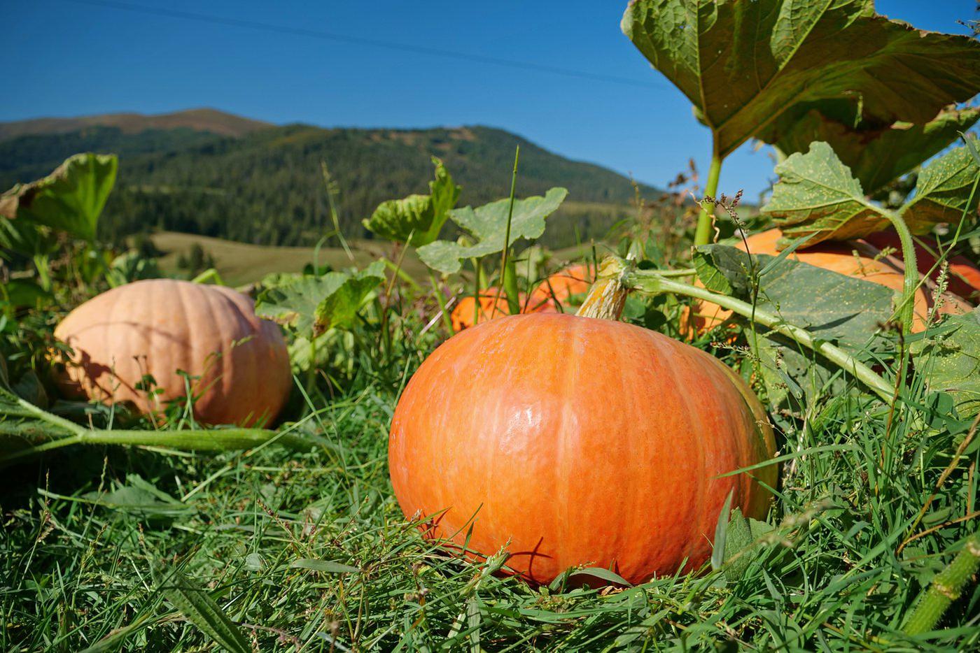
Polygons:
[[[772,457],[759,400],[717,359],[659,333],[564,313],[514,315],[435,350],[398,402],[388,460],[429,536],[548,583],[568,567],[633,583],[700,567],[725,497],[756,518]],[[775,487],[776,466],[752,474]]]

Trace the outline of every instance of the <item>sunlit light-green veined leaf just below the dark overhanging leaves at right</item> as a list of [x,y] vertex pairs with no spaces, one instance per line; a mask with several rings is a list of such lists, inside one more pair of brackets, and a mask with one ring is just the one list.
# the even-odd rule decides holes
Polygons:
[[[827,143],[776,165],[779,182],[762,211],[775,218],[786,242],[810,236],[809,245],[881,231],[890,222],[864,199],[860,182]],[[910,225],[909,225],[910,226]]]

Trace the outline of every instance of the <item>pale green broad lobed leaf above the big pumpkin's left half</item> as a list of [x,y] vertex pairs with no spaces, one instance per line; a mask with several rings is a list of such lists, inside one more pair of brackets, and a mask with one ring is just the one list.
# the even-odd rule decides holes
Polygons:
[[[564,202],[568,191],[564,188],[552,188],[544,197],[534,196],[514,203],[514,215],[511,220],[511,240],[507,247],[526,238],[533,240],[545,231],[545,218],[558,210]],[[450,212],[453,221],[466,230],[475,240],[474,245],[463,245],[449,241],[435,241],[418,248],[418,257],[422,262],[443,274],[454,274],[460,271],[465,258],[486,257],[504,251],[504,239],[507,233],[507,219],[511,201],[498,200],[473,209],[465,207]]]

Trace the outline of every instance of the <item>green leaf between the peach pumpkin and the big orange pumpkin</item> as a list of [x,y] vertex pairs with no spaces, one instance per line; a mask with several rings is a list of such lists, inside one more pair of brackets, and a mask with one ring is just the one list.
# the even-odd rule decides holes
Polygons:
[[353,274],[295,275],[263,291],[256,301],[256,313],[300,335],[318,336],[331,327],[350,325],[368,293],[384,279],[381,260]]

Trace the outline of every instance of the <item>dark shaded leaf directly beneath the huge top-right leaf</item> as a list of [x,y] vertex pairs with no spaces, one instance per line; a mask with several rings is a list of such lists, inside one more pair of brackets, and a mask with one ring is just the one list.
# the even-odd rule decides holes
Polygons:
[[786,155],[806,152],[813,141],[830,144],[871,195],[953,143],[980,118],[980,109],[944,109],[924,124],[881,124],[859,116],[848,99],[798,104],[760,132]]

